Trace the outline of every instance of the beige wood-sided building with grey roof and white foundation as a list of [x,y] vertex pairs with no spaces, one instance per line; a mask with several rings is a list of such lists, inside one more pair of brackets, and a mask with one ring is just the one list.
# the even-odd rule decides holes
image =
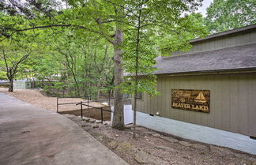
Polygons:
[[193,39],[156,59],[160,96],[137,99],[137,122],[256,154],[256,24]]

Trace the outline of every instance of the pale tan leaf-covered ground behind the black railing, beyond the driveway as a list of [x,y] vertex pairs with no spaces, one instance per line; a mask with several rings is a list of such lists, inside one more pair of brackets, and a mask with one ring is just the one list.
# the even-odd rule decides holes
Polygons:
[[[39,89],[14,89],[13,92],[8,92],[8,88],[0,88],[0,92],[5,93],[9,96],[16,97],[27,103],[31,103],[37,107],[42,107],[47,110],[57,111],[57,98],[43,96]],[[78,98],[61,98],[58,99],[58,103],[79,103],[81,101],[87,101],[86,99]],[[92,102],[89,103],[93,107],[102,107],[101,103]],[[84,107],[85,109],[87,107]],[[58,111],[71,111],[80,109],[79,106],[74,104],[71,105],[60,105]]]

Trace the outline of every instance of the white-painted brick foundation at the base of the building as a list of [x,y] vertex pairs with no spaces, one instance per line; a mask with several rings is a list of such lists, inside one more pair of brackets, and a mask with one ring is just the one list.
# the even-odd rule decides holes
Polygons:
[[256,140],[240,133],[150,116],[141,112],[137,112],[137,124],[192,141],[215,144],[256,155]]

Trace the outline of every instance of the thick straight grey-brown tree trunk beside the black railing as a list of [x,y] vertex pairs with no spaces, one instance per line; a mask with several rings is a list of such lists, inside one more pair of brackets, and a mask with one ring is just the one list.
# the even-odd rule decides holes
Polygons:
[[123,33],[120,28],[116,29],[115,32],[115,43],[114,43],[114,75],[115,75],[115,101],[114,101],[114,116],[112,127],[115,129],[124,129],[124,115],[123,115],[123,100],[122,93],[119,88],[116,88],[123,81],[123,70],[122,70],[122,44]]

